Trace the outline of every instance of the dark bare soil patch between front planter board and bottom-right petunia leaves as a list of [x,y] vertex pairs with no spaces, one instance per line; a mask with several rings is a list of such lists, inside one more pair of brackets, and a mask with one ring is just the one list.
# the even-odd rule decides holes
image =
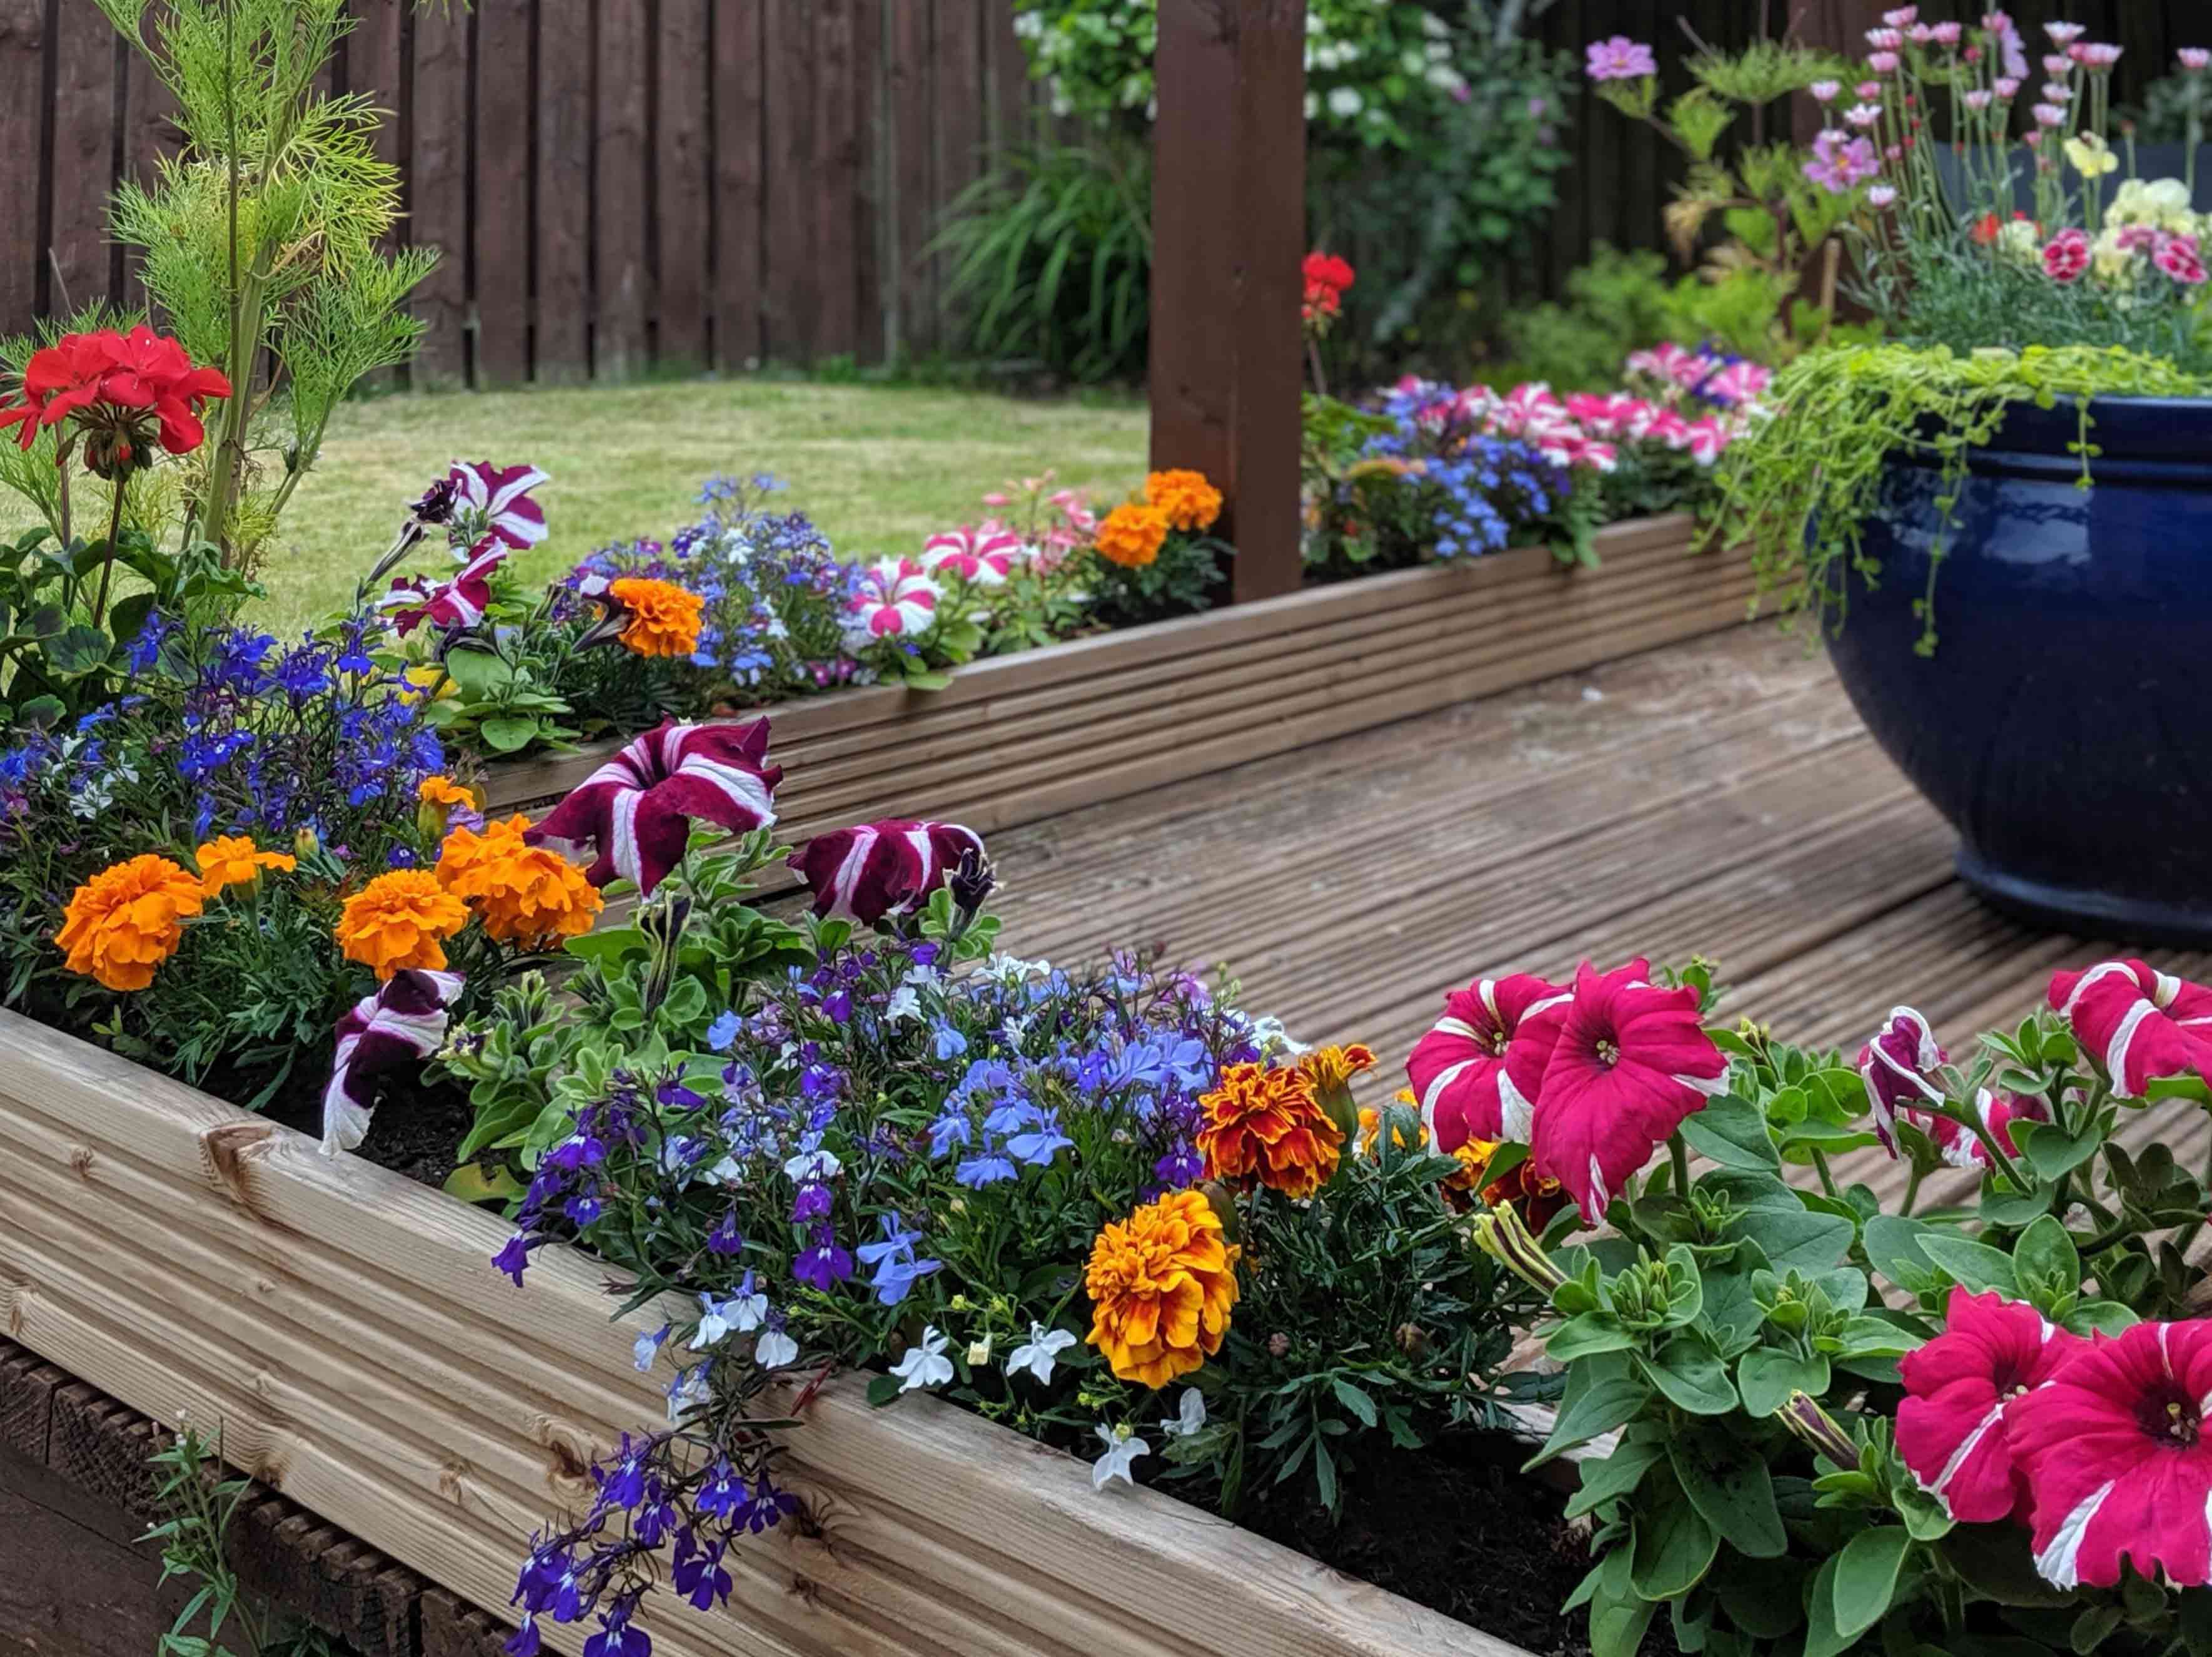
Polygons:
[[[1500,1449],[1517,1447],[1467,1438],[1369,1453],[1345,1478],[1338,1524],[1305,1480],[1265,1491],[1239,1522],[1535,1657],[1588,1657],[1584,1613],[1559,1611],[1590,1569],[1586,1533],[1562,1518],[1559,1491],[1515,1473]],[[1661,1615],[1644,1657],[1670,1653]]]

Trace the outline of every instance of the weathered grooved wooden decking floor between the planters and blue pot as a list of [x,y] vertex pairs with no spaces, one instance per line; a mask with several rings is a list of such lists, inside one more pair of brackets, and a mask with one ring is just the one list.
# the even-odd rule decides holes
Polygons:
[[[1013,951],[1157,942],[1228,962],[1248,1007],[1301,1040],[1367,1042],[1391,1086],[1447,991],[1584,956],[1703,953],[1723,1018],[1803,1046],[1856,1051],[1909,1002],[1955,1053],[2035,1009],[2053,967],[2212,962],[2011,923],[1960,885],[1953,847],[1827,659],[1767,626],[991,841]],[[2201,1153],[2203,1113],[2139,1126],[2183,1124]],[[1878,1157],[1851,1175],[1902,1186]]]

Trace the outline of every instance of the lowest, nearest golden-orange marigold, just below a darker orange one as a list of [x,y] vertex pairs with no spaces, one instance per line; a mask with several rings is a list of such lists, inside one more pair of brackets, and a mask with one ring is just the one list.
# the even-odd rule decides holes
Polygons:
[[1194,1190],[1170,1190],[1091,1243],[1091,1345],[1121,1380],[1166,1387],[1221,1349],[1237,1305],[1237,1246]]

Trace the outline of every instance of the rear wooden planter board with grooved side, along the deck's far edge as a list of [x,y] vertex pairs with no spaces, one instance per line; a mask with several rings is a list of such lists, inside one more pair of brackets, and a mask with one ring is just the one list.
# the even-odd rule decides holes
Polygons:
[[[765,708],[785,772],[779,832],[922,816],[989,834],[1747,615],[1745,555],[1692,555],[1686,515],[1613,524],[1597,551],[1597,569],[1528,546],[1369,575],[991,657],[947,690],[874,686]],[[489,801],[551,807],[615,748],[495,765]]]

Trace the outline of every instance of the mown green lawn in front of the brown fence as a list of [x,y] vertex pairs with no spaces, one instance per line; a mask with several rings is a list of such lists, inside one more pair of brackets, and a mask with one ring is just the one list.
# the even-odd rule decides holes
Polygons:
[[553,577],[611,540],[666,538],[717,471],[772,471],[841,555],[902,553],[982,515],[1006,478],[1119,498],[1144,482],[1146,411],[1115,400],[805,381],[672,381],[349,405],[301,484],[263,571],[268,626],[343,606],[407,502],[449,460],[533,462],[551,535],[520,560]]

